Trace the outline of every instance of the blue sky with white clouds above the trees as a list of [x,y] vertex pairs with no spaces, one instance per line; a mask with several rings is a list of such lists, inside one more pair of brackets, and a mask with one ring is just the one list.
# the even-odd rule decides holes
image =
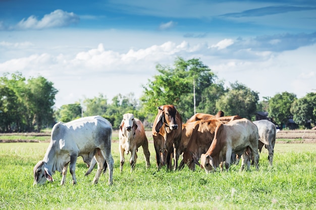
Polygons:
[[[214,2],[214,3],[212,3]],[[0,1],[0,76],[42,76],[56,108],[142,94],[155,65],[200,58],[262,97],[316,91],[314,0]],[[110,101],[111,102],[111,101]]]

